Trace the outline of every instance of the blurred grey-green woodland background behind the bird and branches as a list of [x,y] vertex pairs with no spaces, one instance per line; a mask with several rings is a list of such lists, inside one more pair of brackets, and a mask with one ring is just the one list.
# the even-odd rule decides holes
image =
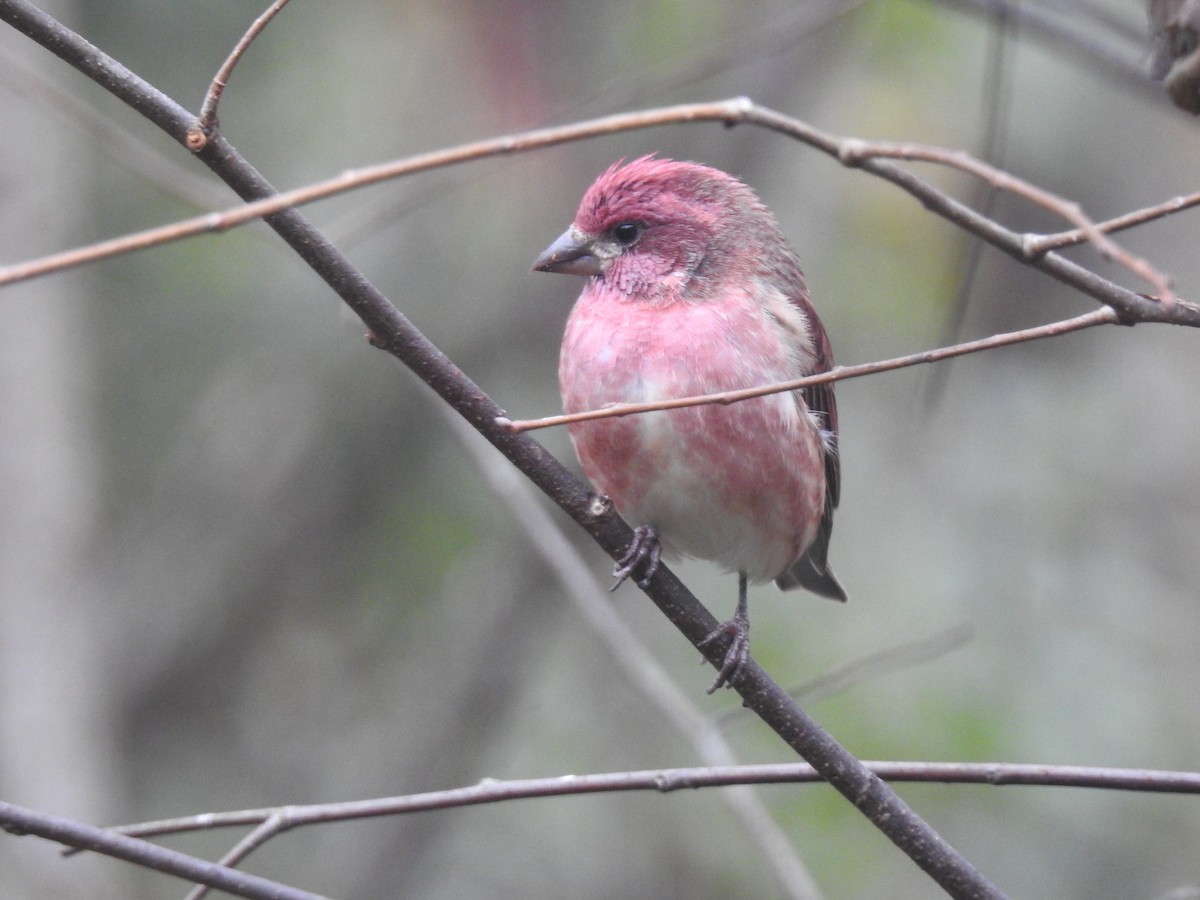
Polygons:
[[[47,2],[197,109],[264,4]],[[748,95],[817,127],[988,155],[1096,218],[1196,190],[1196,122],[1146,68],[1133,0],[292,4],[223,132],[276,186],[545,124]],[[0,254],[234,205],[154,126],[0,28]],[[778,214],[841,362],[947,343],[970,241],[895,187],[761,130],[691,125],[484,161],[307,208],[510,414],[558,410],[581,284],[533,275],[592,179],[649,151]],[[978,202],[965,178],[920,169]],[[996,198],[1020,230],[1042,210]],[[1195,212],[1121,235],[1196,299]],[[1070,256],[1135,289],[1116,266]],[[984,250],[962,338],[1093,308]],[[0,294],[0,796],[94,823],[697,764],[575,605],[611,607],[702,716],[712,671],[503,458],[371,349],[262,224]],[[832,559],[846,606],[751,596],[784,684],[864,758],[1200,768],[1200,335],[1142,325],[844,382]],[[540,432],[575,467],[563,432]],[[530,532],[533,529],[533,532]],[[558,558],[558,557],[556,557]],[[678,568],[724,617],[736,580]],[[930,646],[940,647],[931,653]],[[888,661],[884,666],[863,660]],[[678,710],[677,710],[678,712]],[[744,762],[791,752],[720,719]],[[1193,896],[1194,799],[1034,787],[901,794],[1013,896]],[[936,887],[821,786],[761,788],[830,898]],[[220,856],[214,833],[166,841]],[[720,791],[499,804],[301,829],[247,868],[344,898],[784,896]],[[0,840],[6,898],[181,883]],[[1176,892],[1171,894],[1171,892]],[[1182,893],[1181,893],[1182,892]]]

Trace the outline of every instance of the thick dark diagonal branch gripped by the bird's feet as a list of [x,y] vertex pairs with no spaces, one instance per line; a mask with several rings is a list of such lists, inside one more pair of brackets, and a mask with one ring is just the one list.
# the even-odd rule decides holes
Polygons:
[[[193,121],[186,109],[28,0],[0,0],[0,19],[139,109],[168,133],[184,139]],[[736,101],[732,106],[752,108],[749,101]],[[725,109],[728,110],[730,104]],[[508,152],[516,149],[522,149],[518,142],[511,143]],[[210,139],[197,157],[246,200],[260,200],[276,193],[220,134]],[[886,164],[886,161],[869,160],[864,167]],[[545,448],[526,434],[511,434],[499,427],[496,420],[504,413],[492,398],[414,328],[298,210],[277,211],[268,223],[362,319],[374,346],[404,362],[575,518],[613,559],[625,552],[632,539],[629,526],[611,510],[594,506],[587,488]],[[1046,257],[1052,258],[1052,254]],[[660,566],[643,590],[710,664],[721,665],[726,641],[700,647],[716,626],[716,619],[667,566]],[[947,893],[962,898],[1003,896],[990,880],[787,696],[757,662],[749,660],[734,682],[734,689],[748,707]]]

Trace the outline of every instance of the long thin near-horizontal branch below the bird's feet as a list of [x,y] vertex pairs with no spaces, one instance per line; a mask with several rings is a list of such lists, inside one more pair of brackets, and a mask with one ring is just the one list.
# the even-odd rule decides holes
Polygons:
[[[1086,787],[1134,793],[1200,794],[1200,773],[1163,769],[1120,769],[1096,766],[1038,766],[1000,762],[896,762],[864,761],[872,774],[896,782],[937,782],[943,785],[1026,785],[1039,787]],[[360,818],[408,815],[431,810],[478,806],[487,803],[524,800],[538,797],[574,797],[626,791],[667,793],[701,787],[730,785],[797,785],[824,781],[824,776],[806,763],[769,763],[757,766],[707,766],[696,768],[646,769],[590,775],[498,781],[484,779],[478,785],[448,791],[382,797],[370,800],[322,803],[287,806],[289,828]],[[163,834],[203,832],[212,828],[260,826],[280,815],[280,809],[245,809],[228,812],[204,812],[197,816],[163,818],[114,827],[119,834],[151,838]]]

